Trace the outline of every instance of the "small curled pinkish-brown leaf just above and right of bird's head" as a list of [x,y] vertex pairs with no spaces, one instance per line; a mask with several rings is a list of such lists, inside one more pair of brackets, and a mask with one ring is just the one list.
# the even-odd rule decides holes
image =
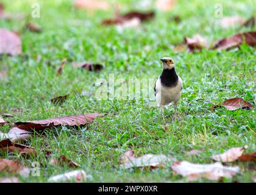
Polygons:
[[207,47],[207,40],[201,35],[193,35],[192,38],[185,37],[184,41],[188,46],[189,52],[194,52],[196,50],[200,51],[202,48]]

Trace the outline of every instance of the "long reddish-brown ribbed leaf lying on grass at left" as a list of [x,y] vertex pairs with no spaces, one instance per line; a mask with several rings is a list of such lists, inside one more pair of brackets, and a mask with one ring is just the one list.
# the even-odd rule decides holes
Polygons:
[[100,116],[98,113],[85,115],[62,116],[40,121],[15,122],[15,127],[24,130],[44,130],[53,126],[81,126],[90,123],[94,118]]

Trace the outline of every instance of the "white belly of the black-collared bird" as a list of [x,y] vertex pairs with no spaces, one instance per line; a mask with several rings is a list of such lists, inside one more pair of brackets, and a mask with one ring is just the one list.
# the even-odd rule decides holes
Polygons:
[[178,83],[175,87],[163,87],[161,85],[161,81],[158,78],[157,82],[155,83],[155,89],[157,90],[156,93],[156,100],[157,105],[160,106],[168,106],[171,102],[177,102],[180,99],[182,88],[182,80],[179,77]]

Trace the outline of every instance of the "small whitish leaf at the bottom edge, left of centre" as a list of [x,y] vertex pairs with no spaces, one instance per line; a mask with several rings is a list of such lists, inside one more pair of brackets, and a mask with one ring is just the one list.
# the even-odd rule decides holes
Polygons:
[[76,179],[76,182],[82,182],[87,179],[87,175],[84,170],[70,171],[50,177],[48,182],[68,182],[73,179]]

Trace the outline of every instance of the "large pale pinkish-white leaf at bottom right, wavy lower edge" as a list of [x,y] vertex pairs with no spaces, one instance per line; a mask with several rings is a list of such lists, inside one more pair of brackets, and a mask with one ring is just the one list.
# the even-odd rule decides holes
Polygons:
[[197,179],[219,180],[222,177],[230,178],[238,171],[238,166],[223,166],[221,163],[215,164],[193,164],[188,161],[179,161],[171,166],[171,169],[189,181]]

